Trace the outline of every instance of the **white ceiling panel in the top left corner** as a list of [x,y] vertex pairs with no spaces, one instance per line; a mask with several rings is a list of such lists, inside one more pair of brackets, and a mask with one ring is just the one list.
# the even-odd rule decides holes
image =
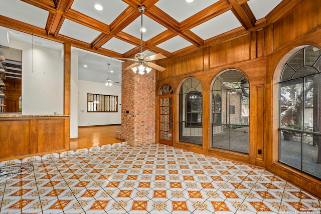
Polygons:
[[45,28],[49,12],[19,0],[1,0],[0,15]]

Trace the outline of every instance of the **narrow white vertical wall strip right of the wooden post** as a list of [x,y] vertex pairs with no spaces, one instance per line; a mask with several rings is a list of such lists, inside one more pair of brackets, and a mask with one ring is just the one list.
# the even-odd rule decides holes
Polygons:
[[70,138],[78,137],[78,51],[71,51]]

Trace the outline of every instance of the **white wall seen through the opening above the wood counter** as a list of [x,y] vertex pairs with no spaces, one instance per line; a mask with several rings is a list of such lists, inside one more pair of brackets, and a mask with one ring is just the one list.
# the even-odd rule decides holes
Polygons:
[[10,47],[22,50],[22,114],[63,114],[61,52],[15,40]]

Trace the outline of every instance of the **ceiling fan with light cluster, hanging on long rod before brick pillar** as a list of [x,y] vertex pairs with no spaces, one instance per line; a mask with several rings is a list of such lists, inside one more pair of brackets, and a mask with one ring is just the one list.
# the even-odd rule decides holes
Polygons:
[[135,54],[134,58],[116,58],[116,59],[135,61],[133,64],[131,64],[130,66],[125,68],[125,70],[132,69],[134,73],[136,73],[137,70],[138,70],[138,74],[144,74],[145,71],[147,71],[147,73],[149,73],[151,71],[151,68],[156,69],[158,71],[164,71],[166,68],[163,68],[162,66],[156,65],[156,64],[154,64],[154,63],[152,63],[150,61],[164,59],[164,58],[166,58],[166,56],[164,56],[163,54],[155,54],[155,55],[147,57],[146,54],[142,53],[142,33],[143,33],[142,32],[142,14],[145,11],[145,7],[144,6],[139,6],[138,7],[138,11],[141,13],[141,15],[140,15],[140,17],[141,17],[140,53]]

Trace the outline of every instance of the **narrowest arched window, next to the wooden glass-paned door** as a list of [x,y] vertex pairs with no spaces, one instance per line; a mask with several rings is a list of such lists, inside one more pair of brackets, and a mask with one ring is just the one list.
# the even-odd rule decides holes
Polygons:
[[203,87],[196,78],[184,81],[180,89],[180,141],[202,145]]

